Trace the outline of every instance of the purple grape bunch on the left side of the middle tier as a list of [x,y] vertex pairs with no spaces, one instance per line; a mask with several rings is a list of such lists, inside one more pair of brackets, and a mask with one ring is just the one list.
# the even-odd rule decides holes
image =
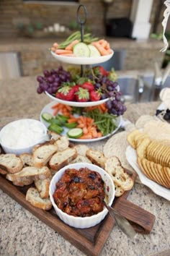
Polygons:
[[50,94],[56,93],[63,82],[71,81],[70,72],[67,72],[61,66],[56,70],[44,70],[43,74],[43,76],[37,77],[37,82],[39,82],[37,93],[43,93],[45,91]]

